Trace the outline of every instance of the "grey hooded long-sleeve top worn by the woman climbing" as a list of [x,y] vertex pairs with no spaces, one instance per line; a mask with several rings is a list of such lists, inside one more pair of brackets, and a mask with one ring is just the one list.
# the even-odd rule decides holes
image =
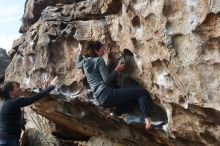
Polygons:
[[87,81],[97,98],[108,84],[117,76],[116,71],[108,72],[105,61],[102,57],[83,58],[79,55],[76,60],[76,67],[84,69]]

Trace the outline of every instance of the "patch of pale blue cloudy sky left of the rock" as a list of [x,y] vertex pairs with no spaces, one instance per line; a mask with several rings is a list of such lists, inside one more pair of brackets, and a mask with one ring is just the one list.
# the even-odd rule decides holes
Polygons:
[[13,40],[21,34],[21,18],[25,0],[0,0],[0,47],[11,49]]

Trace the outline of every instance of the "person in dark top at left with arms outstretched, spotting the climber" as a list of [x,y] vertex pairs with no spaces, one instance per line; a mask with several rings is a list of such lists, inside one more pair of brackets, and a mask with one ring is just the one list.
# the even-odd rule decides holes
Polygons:
[[[21,134],[21,107],[41,99],[55,88],[58,77],[47,81],[40,93],[32,97],[20,97],[22,90],[18,82],[7,82],[0,90],[0,146],[19,146]],[[49,85],[50,84],[50,85]]]

